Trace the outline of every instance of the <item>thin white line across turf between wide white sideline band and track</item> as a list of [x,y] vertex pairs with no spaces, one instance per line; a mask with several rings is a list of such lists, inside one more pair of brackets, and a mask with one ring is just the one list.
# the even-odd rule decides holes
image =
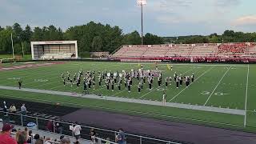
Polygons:
[[[38,100],[36,98],[24,98],[24,97],[17,97],[17,96],[6,95],[6,94],[5,94],[5,96],[12,97],[12,98],[22,98],[22,99],[29,99],[29,100]],[[45,99],[41,99],[40,101],[42,101],[42,102],[54,102],[54,101],[45,100]],[[101,108],[101,109],[104,109],[104,110],[117,110],[117,111],[124,111],[124,112],[129,112],[129,113],[136,113],[136,114],[154,115],[154,116],[158,116],[158,117],[178,118],[178,119],[185,119],[185,120],[197,121],[197,122],[208,122],[208,123],[214,123],[214,124],[220,124],[220,125],[226,125],[226,126],[242,127],[242,125],[236,125],[236,124],[230,124],[230,123],[224,123],[224,122],[212,122],[212,121],[206,121],[206,120],[201,120],[201,119],[184,118],[184,117],[177,117],[177,116],[164,115],[164,114],[153,114],[153,113],[146,113],[146,112],[135,111],[135,110],[122,110],[122,109],[115,109],[115,108],[109,108],[109,107],[103,107],[103,106],[81,105],[81,104],[78,104],[78,103],[71,103],[71,102],[58,102],[58,103],[63,103],[63,104],[73,105],[73,106],[87,106],[87,107],[93,107],[93,108]]]

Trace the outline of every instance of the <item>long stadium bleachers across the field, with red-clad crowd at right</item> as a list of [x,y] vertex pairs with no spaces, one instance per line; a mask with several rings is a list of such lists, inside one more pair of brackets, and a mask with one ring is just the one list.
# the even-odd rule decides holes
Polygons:
[[111,58],[255,58],[256,44],[202,43],[122,46]]

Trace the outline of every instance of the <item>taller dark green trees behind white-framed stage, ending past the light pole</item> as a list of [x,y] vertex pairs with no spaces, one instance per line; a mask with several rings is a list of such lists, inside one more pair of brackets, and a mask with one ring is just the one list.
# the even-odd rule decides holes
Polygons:
[[[91,51],[109,51],[110,53],[122,45],[139,45],[141,36],[138,31],[123,34],[118,26],[103,25],[101,23],[89,22],[82,26],[71,26],[66,31],[53,25],[34,27],[29,25],[24,29],[18,23],[13,26],[0,26],[0,54],[11,54],[12,45],[10,35],[13,34],[14,53],[22,54],[22,45],[25,54],[30,54],[31,41],[62,41],[77,40],[78,53],[83,55]],[[164,38],[154,34],[144,36],[144,44],[161,44]]]

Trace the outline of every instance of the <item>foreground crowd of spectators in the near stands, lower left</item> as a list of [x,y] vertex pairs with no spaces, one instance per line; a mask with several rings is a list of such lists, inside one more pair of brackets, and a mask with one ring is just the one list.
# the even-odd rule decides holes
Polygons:
[[[24,126],[29,126],[30,122],[28,119],[30,117],[27,115],[29,113],[26,110],[25,104],[22,104],[22,106],[18,110],[14,104],[11,104],[11,106],[8,108],[6,102],[3,102],[3,106],[2,108],[0,108],[0,110],[2,110],[3,117],[6,117],[7,119],[9,119],[9,121],[10,121],[10,118],[13,118],[15,115],[17,115],[19,118],[22,118],[22,122]],[[16,130],[14,126],[10,124],[10,122],[6,122],[3,119],[2,119],[2,122],[3,122],[3,126],[2,126],[2,130],[0,130],[1,131],[0,144],[55,144],[55,143],[69,144],[70,143],[70,139],[64,138],[64,135],[62,135],[66,127],[62,126],[63,123],[59,120],[53,121],[49,119],[48,122],[46,123],[44,130],[51,132],[53,134],[62,135],[60,138],[49,138],[49,137],[40,136],[39,134],[34,134],[32,132],[33,130],[32,127],[29,127],[29,128],[25,127],[24,130],[21,130],[21,129]],[[73,125],[73,128],[71,131],[72,131],[72,134],[74,134],[74,138],[75,138],[74,143],[78,144],[82,135],[81,133],[82,126],[80,126],[78,122],[74,122],[74,124],[70,123],[70,126],[71,125]],[[69,127],[69,130],[70,130],[70,127]],[[14,134],[13,138],[10,137],[11,134]],[[98,138],[98,134],[95,132],[93,128],[90,130],[90,133],[88,135],[90,136],[91,144],[95,144],[97,139],[101,139],[102,143],[106,143],[106,144],[114,143],[114,142],[110,142],[110,138],[106,138],[106,139]],[[115,142],[122,144],[123,141],[125,141],[125,134],[123,130],[120,129],[118,136],[115,139]]]

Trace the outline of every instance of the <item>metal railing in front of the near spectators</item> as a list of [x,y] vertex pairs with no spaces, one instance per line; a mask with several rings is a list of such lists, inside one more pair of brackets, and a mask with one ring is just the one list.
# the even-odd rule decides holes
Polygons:
[[[8,115],[8,117],[6,117],[6,120],[4,121],[7,121],[7,122],[13,121],[18,126],[24,126],[29,122],[34,122],[36,124],[34,129],[36,130],[46,130],[46,125],[49,121],[52,121],[53,124],[59,123],[60,126],[62,126],[62,132],[60,132],[58,128],[55,127],[55,125],[54,125],[54,130],[50,132],[74,136],[74,133],[72,132],[72,130],[70,130],[70,126],[74,126],[74,123],[72,122],[63,122],[63,121],[53,120],[50,118],[38,118],[30,115],[22,115],[22,114],[15,114],[15,113],[9,113],[9,112],[6,113],[3,111],[0,111],[0,116],[4,116],[6,114]],[[98,134],[96,135],[98,142],[108,142],[105,140],[106,138],[110,138],[110,140],[115,141],[115,138],[118,135],[118,131],[115,131],[115,130],[106,130],[98,127],[83,126],[83,125],[81,125],[81,127],[82,127],[81,136],[84,139],[90,139],[90,129],[94,129]],[[101,138],[99,138],[99,136]],[[126,133],[126,139],[127,139],[126,140],[127,143],[138,143],[138,144],[144,144],[144,143],[146,144],[182,144],[182,142],[166,141],[158,138],[150,138],[142,135],[127,134],[127,133]],[[114,143],[114,142],[110,142],[110,143]]]

